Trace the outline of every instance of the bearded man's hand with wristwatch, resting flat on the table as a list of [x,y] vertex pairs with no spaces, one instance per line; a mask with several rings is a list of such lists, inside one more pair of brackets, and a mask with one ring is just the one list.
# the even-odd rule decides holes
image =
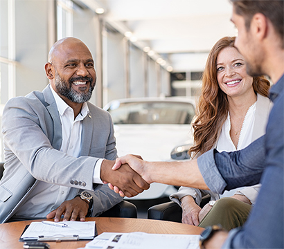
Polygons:
[[60,217],[64,214],[63,221],[76,221],[79,217],[80,221],[85,221],[88,213],[89,205],[86,201],[76,197],[70,201],[64,201],[58,208],[46,215],[46,219],[53,219],[54,221],[60,221]]

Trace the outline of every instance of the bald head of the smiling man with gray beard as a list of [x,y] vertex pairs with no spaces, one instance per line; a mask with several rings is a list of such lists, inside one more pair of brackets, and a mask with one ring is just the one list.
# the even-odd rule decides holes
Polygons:
[[94,60],[80,39],[67,37],[55,42],[45,64],[46,76],[55,92],[70,106],[86,102],[96,84]]

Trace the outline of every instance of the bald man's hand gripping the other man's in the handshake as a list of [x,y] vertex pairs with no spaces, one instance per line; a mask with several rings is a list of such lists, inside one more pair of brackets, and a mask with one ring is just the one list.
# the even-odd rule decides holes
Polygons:
[[[115,192],[119,193],[121,196],[136,196],[143,192],[143,190],[148,190],[150,187],[129,165],[123,163],[120,165],[119,169],[115,171],[112,170],[113,166],[114,161],[103,160],[100,168],[100,178],[104,183],[111,183],[112,186],[116,186]],[[114,188],[112,188],[112,190],[114,190]]]

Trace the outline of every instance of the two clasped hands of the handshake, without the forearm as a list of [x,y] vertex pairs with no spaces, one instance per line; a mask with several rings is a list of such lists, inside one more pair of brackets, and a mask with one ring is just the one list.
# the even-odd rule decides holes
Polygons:
[[103,160],[100,178],[109,188],[121,196],[132,197],[148,190],[150,175],[141,156],[127,155],[112,160]]

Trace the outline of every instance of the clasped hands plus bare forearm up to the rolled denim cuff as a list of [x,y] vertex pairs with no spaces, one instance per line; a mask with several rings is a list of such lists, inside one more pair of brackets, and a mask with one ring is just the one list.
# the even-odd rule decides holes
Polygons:
[[148,190],[150,183],[164,183],[209,190],[197,164],[197,159],[171,162],[148,162],[141,156],[126,155],[103,160],[100,178],[121,196],[132,197]]

